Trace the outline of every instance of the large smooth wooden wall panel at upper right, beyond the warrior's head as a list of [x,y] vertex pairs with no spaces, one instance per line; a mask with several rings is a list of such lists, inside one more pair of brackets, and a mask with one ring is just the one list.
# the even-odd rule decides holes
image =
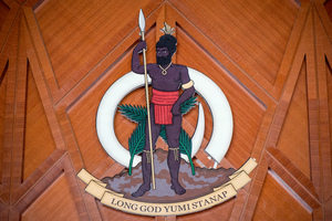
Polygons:
[[[200,6],[199,1],[172,1],[247,74],[271,92],[299,6],[288,0],[264,2],[210,1]],[[277,10],[281,6],[282,10]],[[268,19],[263,17],[266,13]]]

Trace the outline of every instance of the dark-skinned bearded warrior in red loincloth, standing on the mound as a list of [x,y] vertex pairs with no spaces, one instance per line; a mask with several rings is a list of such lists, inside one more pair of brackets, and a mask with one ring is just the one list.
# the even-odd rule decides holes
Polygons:
[[[168,28],[168,29],[167,29]],[[152,78],[152,104],[151,109],[151,130],[152,144],[155,144],[160,133],[162,125],[165,125],[168,144],[167,165],[170,173],[170,188],[177,194],[184,194],[186,190],[178,182],[180,166],[179,135],[181,130],[180,105],[190,98],[194,93],[194,82],[190,81],[188,69],[184,65],[173,64],[172,57],[176,52],[177,40],[172,35],[173,30],[167,27],[162,30],[165,32],[156,43],[157,63],[146,65],[147,74]],[[132,70],[137,74],[144,74],[144,66],[139,63],[139,53],[146,49],[146,42],[141,41],[133,51]],[[179,95],[179,87],[184,92]],[[149,133],[146,124],[145,147],[142,154],[143,183],[138,190],[132,193],[133,197],[141,197],[151,189],[151,150]]]

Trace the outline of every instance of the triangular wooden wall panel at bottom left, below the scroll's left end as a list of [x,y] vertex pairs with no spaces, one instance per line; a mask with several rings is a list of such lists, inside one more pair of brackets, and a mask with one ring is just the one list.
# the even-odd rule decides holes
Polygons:
[[[65,219],[64,215],[73,217],[74,220],[87,220],[85,204],[68,155],[51,164],[53,167],[33,188],[24,192],[23,198],[13,203],[9,220],[35,220],[41,217],[45,220],[59,220]],[[62,197],[58,198],[59,196]],[[55,200],[56,203],[53,203]]]

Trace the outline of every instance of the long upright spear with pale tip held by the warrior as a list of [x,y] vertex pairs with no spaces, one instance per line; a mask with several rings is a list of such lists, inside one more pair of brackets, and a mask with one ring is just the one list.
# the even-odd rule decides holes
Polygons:
[[[141,29],[141,38],[144,41],[144,31],[145,31],[145,18],[142,9],[139,10],[138,25]],[[146,71],[146,52],[143,49],[143,64],[144,64],[144,80],[145,80],[145,98],[146,98],[146,109],[147,109],[147,125],[148,125],[148,141],[149,141],[149,154],[151,154],[151,167],[152,167],[152,180],[153,188],[156,189],[155,182],[155,169],[154,169],[154,152],[153,152],[153,144],[152,144],[152,131],[151,131],[151,115],[149,115],[149,99],[148,99],[148,85],[147,85],[147,71]]]

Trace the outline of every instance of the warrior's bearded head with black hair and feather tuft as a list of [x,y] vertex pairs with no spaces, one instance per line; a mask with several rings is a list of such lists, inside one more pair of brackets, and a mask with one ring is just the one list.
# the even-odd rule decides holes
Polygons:
[[159,41],[156,43],[156,56],[157,64],[166,65],[172,61],[172,56],[176,52],[177,40],[172,34],[174,33],[174,28],[170,29],[165,22],[164,29],[160,29],[165,35],[162,35]]

